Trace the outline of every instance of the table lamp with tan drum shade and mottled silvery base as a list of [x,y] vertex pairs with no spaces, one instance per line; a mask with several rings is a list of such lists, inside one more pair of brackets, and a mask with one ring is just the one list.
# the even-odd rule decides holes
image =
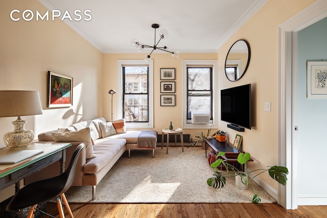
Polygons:
[[38,91],[0,91],[0,117],[18,116],[12,122],[13,132],[4,135],[4,142],[10,149],[27,147],[34,138],[34,132],[25,130],[25,120],[20,116],[42,114],[40,95]]

